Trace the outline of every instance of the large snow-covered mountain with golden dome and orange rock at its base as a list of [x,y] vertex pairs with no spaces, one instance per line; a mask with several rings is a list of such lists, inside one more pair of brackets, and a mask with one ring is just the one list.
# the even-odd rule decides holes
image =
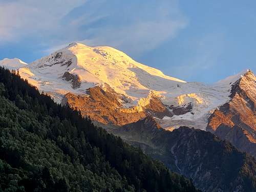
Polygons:
[[[56,102],[72,104],[94,120],[122,125],[150,113],[169,130],[184,125],[204,130],[210,114],[230,99],[231,84],[243,73],[210,85],[185,82],[114,48],[79,43],[19,68],[20,76]],[[105,99],[104,109],[108,108],[100,115],[103,101],[98,95]]]

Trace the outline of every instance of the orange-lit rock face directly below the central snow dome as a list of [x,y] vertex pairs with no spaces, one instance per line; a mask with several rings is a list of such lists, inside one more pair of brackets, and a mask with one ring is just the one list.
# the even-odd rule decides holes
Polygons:
[[89,88],[87,94],[66,94],[61,104],[68,104],[71,108],[80,110],[83,116],[90,116],[94,121],[119,126],[136,122],[147,114],[153,114],[159,118],[173,115],[154,95],[150,95],[144,103],[129,109],[123,108],[123,100],[125,98],[120,97],[114,90],[104,91],[96,86]]

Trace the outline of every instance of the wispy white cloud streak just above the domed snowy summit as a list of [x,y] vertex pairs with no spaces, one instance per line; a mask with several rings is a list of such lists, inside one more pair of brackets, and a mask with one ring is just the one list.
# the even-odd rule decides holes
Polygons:
[[132,54],[139,54],[154,49],[168,38],[175,37],[184,27],[185,22],[145,21],[116,29],[100,30],[96,37],[85,39],[83,42],[90,45],[111,45]]

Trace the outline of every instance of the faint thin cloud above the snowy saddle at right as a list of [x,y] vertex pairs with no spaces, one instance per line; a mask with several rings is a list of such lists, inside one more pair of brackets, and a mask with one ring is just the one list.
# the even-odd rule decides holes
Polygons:
[[[186,42],[190,52],[179,65],[170,66],[168,71],[181,76],[185,80],[204,78],[204,72],[219,66],[219,57],[225,47],[225,33],[211,32]],[[216,69],[214,69],[216,70]],[[206,75],[206,73],[205,73]]]

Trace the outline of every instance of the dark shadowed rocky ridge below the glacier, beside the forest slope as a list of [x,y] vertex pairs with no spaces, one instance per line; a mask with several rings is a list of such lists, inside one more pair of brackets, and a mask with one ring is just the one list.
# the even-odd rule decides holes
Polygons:
[[112,133],[191,178],[202,191],[256,190],[255,159],[209,132],[188,127],[169,132],[146,117]]

